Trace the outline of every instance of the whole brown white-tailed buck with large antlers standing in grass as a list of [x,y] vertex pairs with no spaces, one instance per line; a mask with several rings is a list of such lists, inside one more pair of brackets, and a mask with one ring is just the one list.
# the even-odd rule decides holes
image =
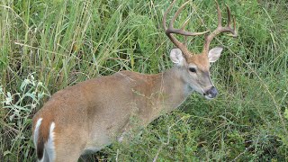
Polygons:
[[163,24],[167,37],[178,48],[170,53],[175,66],[156,75],[122,71],[86,80],[53,94],[33,118],[33,140],[39,161],[77,161],[86,151],[97,151],[113,140],[121,140],[125,132],[135,127],[131,117],[146,126],[163,112],[174,110],[193,91],[207,99],[218,94],[211,82],[209,67],[220,57],[222,48],[209,50],[209,45],[220,32],[230,32],[236,37],[235,19],[231,28],[227,7],[228,25],[222,27],[216,2],[218,27],[206,35],[202,53],[193,55],[173,34],[196,36],[208,31],[184,31],[187,22],[180,29],[174,28],[175,19],[187,3],[177,10],[167,28],[166,14],[174,4],[175,1],[166,10]]

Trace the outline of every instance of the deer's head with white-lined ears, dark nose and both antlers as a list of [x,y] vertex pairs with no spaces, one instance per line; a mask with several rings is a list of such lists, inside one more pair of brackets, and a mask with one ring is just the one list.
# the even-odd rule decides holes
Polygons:
[[193,52],[189,51],[184,43],[177,40],[173,34],[181,34],[184,36],[196,36],[202,35],[209,31],[204,32],[190,32],[184,31],[184,26],[188,23],[188,20],[183,24],[180,29],[175,29],[173,23],[175,19],[183,10],[184,6],[188,2],[184,3],[178,11],[173,16],[168,28],[166,27],[166,14],[170,11],[173,4],[175,4],[175,0],[166,10],[166,13],[163,16],[163,25],[166,31],[166,35],[168,38],[175,44],[178,49],[172,49],[170,53],[170,58],[175,66],[178,67],[181,77],[184,82],[188,85],[188,88],[195,90],[196,92],[203,94],[205,98],[212,99],[214,98],[218,92],[215,86],[211,81],[211,73],[210,73],[210,65],[212,62],[215,62],[220,58],[220,54],[222,48],[216,47],[213,49],[209,49],[209,45],[211,40],[221,32],[230,32],[233,37],[237,37],[236,32],[236,22],[235,18],[233,19],[234,29],[231,28],[231,20],[230,20],[230,11],[229,7],[227,6],[227,13],[228,13],[228,24],[226,27],[222,27],[221,25],[221,14],[220,14],[220,7],[217,4],[217,11],[218,11],[218,27],[216,30],[212,31],[209,35],[205,36],[205,42],[203,45],[202,53],[200,54],[193,54]]

